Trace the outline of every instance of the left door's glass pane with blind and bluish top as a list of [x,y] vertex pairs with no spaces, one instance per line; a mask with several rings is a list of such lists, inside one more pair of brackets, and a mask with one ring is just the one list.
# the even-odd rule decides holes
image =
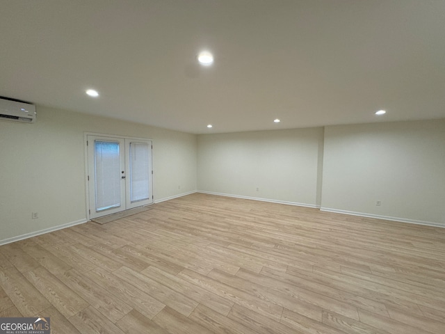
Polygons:
[[96,212],[121,205],[119,151],[119,143],[95,141]]

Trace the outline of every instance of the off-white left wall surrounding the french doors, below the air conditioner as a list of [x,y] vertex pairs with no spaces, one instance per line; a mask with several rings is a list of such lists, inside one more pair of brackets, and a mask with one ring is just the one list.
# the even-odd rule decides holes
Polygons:
[[[196,190],[196,136],[38,106],[35,124],[0,121],[0,244],[86,220],[84,132],[153,140],[154,200]],[[180,186],[180,189],[178,189]],[[38,212],[38,219],[31,219]]]

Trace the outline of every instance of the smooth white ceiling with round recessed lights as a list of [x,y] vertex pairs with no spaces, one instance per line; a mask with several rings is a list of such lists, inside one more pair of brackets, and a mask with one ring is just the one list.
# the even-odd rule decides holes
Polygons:
[[[0,8],[5,97],[194,134],[445,118],[444,0]],[[197,64],[202,49],[211,67]]]

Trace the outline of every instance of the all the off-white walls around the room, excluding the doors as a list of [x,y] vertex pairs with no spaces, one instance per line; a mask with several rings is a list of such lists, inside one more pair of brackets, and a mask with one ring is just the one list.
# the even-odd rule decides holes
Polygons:
[[156,202],[199,189],[445,226],[445,120],[325,127],[323,145],[323,128],[195,136],[38,106],[0,121],[0,244],[86,220],[84,132],[151,138]]

